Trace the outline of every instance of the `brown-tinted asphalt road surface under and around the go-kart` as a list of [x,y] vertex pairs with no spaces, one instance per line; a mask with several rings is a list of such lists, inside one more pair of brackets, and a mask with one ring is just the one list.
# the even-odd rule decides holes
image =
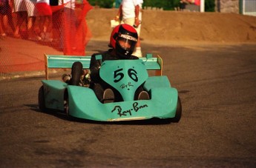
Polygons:
[[43,75],[0,81],[0,167],[256,167],[256,44],[142,42],[142,51],[162,56],[179,123],[70,120],[39,112]]

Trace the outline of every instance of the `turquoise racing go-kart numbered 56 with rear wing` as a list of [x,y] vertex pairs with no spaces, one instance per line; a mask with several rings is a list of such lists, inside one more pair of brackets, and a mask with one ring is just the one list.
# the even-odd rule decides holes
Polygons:
[[[101,56],[97,56],[101,59]],[[147,54],[137,60],[104,61],[99,70],[101,78],[119,91],[123,101],[103,104],[90,87],[73,86],[60,80],[49,80],[49,68],[71,68],[80,61],[89,68],[90,56],[45,55],[46,80],[39,89],[39,109],[61,110],[75,118],[92,121],[131,121],[151,118],[167,118],[180,121],[182,107],[177,89],[171,87],[168,77],[162,75],[163,61],[160,56]],[[148,71],[155,70],[149,76]],[[134,100],[138,87],[144,88],[149,100]]]

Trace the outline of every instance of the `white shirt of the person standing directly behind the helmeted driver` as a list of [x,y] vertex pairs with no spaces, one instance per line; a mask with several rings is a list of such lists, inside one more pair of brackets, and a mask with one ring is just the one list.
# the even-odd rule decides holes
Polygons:
[[140,4],[139,0],[122,0],[122,18],[135,18],[135,6]]

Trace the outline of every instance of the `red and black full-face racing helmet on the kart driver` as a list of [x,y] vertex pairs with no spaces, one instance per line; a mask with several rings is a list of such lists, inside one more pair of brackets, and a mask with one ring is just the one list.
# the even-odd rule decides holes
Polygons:
[[120,58],[129,58],[138,41],[137,31],[129,24],[119,24],[112,30],[110,47],[116,50]]

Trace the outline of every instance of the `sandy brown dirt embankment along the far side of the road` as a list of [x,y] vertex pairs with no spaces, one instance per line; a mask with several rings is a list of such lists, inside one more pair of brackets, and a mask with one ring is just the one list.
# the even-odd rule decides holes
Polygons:
[[[116,9],[93,9],[87,21],[94,39],[108,40]],[[144,10],[141,38],[145,41],[208,41],[256,43],[256,17],[235,13]]]

